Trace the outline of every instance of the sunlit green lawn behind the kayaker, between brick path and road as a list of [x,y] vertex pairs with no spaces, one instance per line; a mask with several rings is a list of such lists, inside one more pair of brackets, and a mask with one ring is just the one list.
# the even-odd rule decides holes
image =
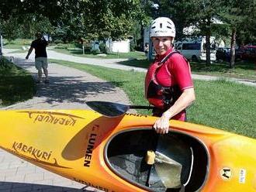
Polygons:
[[[147,105],[144,99],[144,73],[51,60],[67,67],[85,70],[111,82],[126,92],[134,105]],[[194,81],[196,101],[188,109],[189,122],[209,125],[256,138],[256,88],[230,81]],[[150,114],[150,111],[140,111]]]

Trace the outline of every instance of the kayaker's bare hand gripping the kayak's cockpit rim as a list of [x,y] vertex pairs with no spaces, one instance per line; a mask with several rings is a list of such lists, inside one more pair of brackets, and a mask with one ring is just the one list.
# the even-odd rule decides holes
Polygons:
[[169,131],[171,112],[165,111],[161,118],[154,123],[153,128],[157,133],[165,134]]

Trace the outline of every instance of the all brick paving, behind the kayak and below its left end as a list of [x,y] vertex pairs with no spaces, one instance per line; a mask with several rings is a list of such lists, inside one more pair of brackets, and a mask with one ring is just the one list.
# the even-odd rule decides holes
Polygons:
[[[5,54],[8,55],[8,54]],[[24,54],[13,54],[14,62],[36,76],[33,59],[25,60]],[[33,58],[33,56],[31,56]],[[129,104],[126,94],[109,82],[102,81],[80,70],[49,65],[50,84],[37,85],[33,99],[2,108],[88,108],[85,101],[102,100]],[[0,192],[30,191],[81,191],[84,185],[50,173],[0,149]],[[87,187],[84,191],[99,191]]]

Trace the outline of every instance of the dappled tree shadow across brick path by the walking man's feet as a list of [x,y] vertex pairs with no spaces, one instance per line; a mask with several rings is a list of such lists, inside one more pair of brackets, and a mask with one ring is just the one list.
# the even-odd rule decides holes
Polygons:
[[[34,78],[36,78],[36,69],[34,67],[34,60],[25,60],[19,57],[15,58],[19,67],[29,70]],[[76,75],[71,72],[69,68],[64,67],[49,70],[50,84],[37,84],[36,97],[47,98],[46,102],[52,104],[54,102],[77,102],[84,104],[88,98],[94,98],[99,94],[115,94],[115,85],[123,84],[119,82],[104,82],[92,78],[91,75]],[[44,77],[44,76],[43,76]],[[93,80],[92,80],[92,79]],[[107,96],[106,96],[107,97]],[[112,96],[111,96],[112,97]]]

